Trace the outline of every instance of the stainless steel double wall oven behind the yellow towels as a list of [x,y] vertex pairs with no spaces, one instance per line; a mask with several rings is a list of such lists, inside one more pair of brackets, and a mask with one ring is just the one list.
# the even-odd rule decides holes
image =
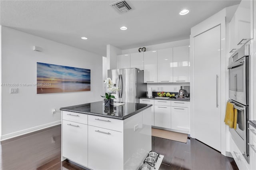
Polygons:
[[249,44],[229,58],[229,101],[237,109],[236,129],[230,128],[234,142],[247,162],[249,160]]

